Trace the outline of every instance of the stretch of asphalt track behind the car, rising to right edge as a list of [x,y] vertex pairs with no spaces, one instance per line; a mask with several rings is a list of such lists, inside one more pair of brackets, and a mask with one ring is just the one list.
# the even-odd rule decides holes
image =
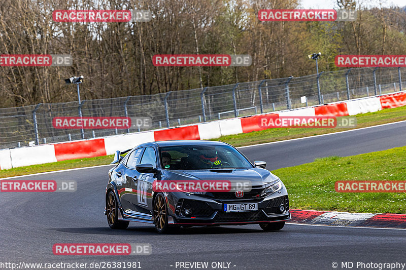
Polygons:
[[354,156],[406,145],[406,121],[239,149],[251,161],[263,160],[268,170],[313,162],[315,158]]

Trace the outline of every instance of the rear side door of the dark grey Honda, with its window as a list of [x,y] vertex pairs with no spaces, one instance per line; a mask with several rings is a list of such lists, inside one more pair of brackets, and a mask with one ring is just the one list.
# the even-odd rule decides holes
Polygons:
[[137,180],[140,175],[136,170],[136,165],[140,164],[139,161],[143,150],[144,147],[140,147],[130,152],[122,169],[122,177],[124,178],[123,187],[125,190],[120,197],[120,201],[125,212],[129,210],[137,211],[133,203],[133,197],[137,194]]

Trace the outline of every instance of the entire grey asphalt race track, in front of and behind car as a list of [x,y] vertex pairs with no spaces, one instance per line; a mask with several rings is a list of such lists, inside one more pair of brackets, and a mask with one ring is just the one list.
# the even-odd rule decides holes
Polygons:
[[[317,157],[403,146],[405,133],[406,122],[401,122],[240,150],[251,161],[268,162],[267,168],[273,170]],[[357,269],[357,261],[406,263],[404,230],[287,224],[281,232],[270,233],[259,225],[246,225],[192,227],[177,235],[158,235],[152,225],[138,223],[131,223],[127,230],[111,230],[103,214],[109,168],[17,178],[76,180],[78,190],[0,194],[0,262],[140,261],[142,269],[185,269],[175,267],[180,261],[230,262],[230,269],[333,269],[333,262],[343,269],[341,263],[346,261]],[[55,243],[149,243],[152,255],[56,256],[52,253]]]

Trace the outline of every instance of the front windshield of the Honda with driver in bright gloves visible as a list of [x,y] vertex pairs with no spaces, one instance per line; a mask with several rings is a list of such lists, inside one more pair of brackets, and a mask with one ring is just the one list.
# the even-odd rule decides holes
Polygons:
[[162,168],[168,170],[248,169],[250,162],[229,145],[160,147]]

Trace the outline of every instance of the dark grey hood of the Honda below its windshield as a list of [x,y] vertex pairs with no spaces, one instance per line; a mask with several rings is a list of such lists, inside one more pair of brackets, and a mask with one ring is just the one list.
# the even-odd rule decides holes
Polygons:
[[276,175],[261,168],[233,170],[166,170],[163,176],[169,180],[244,180],[252,184],[266,184],[279,179]]

